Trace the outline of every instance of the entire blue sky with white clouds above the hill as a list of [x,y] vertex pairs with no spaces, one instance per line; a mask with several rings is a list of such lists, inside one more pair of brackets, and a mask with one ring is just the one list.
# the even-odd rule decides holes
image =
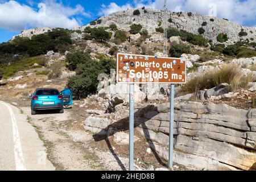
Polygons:
[[[73,28],[133,7],[162,9],[164,0],[0,0],[0,43],[26,28]],[[256,27],[255,0],[167,0],[171,11],[192,11]]]

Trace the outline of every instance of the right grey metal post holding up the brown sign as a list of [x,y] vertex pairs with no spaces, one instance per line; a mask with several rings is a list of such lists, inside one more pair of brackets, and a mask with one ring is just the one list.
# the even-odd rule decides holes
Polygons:
[[174,84],[170,85],[170,127],[169,127],[169,162],[168,167],[172,168],[172,153],[174,151]]

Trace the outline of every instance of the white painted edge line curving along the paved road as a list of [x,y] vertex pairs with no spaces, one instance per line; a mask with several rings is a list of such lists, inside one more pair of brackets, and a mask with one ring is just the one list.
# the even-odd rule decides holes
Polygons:
[[22,146],[19,138],[18,125],[17,125],[15,115],[9,105],[7,105],[3,101],[0,101],[0,102],[7,107],[11,115],[11,124],[13,126],[13,142],[14,142],[14,156],[15,156],[16,171],[26,171],[26,166],[24,164],[24,158],[22,153]]

